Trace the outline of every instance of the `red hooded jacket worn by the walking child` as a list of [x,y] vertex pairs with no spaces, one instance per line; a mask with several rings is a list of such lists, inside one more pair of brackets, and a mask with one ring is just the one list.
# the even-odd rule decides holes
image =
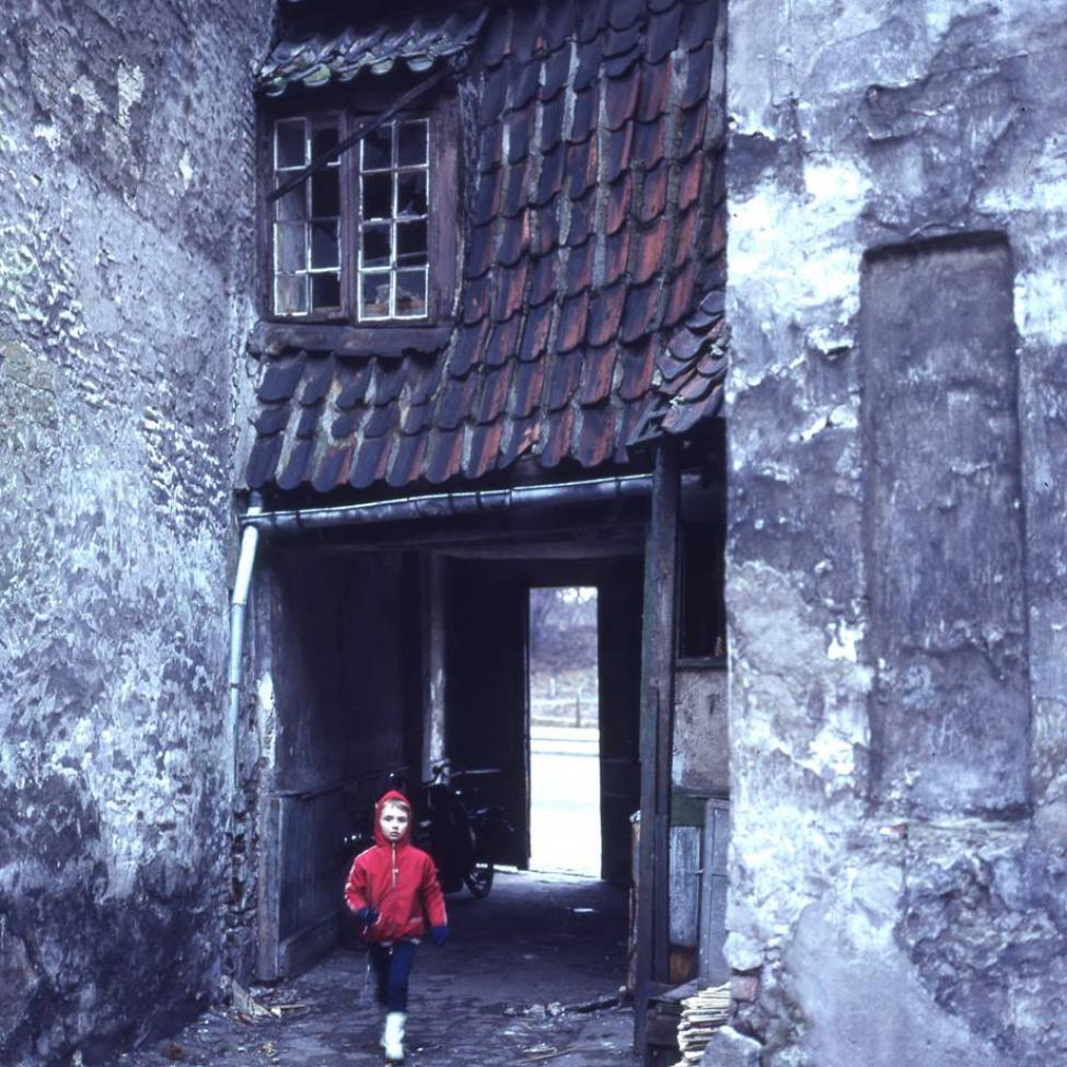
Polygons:
[[373,925],[363,927],[364,941],[420,938],[430,927],[449,924],[433,860],[411,844],[410,823],[407,835],[395,844],[382,833],[382,807],[387,801],[402,803],[411,811],[407,798],[395,789],[379,800],[374,805],[378,844],[356,857],[345,883],[345,901],[353,912],[371,907],[379,913]]

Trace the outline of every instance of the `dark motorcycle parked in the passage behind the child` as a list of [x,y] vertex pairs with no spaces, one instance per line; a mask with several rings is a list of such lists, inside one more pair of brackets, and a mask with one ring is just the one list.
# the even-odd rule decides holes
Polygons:
[[[478,897],[489,895],[496,865],[514,836],[502,808],[480,803],[478,781],[501,772],[464,769],[450,759],[431,766],[430,779],[409,789],[403,775],[390,775],[390,788],[410,797],[417,816],[413,842],[429,853],[445,893],[464,885]],[[360,851],[374,844],[373,826],[345,838],[346,849]]]

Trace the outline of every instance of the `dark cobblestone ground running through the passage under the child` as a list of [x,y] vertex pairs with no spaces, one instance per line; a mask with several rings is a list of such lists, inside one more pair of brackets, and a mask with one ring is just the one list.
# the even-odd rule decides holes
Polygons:
[[[419,948],[407,1067],[634,1067],[618,1005],[626,895],[598,881],[498,874],[484,901],[450,896],[452,939]],[[243,1008],[243,1010],[242,1010]],[[339,949],[299,978],[251,990],[117,1067],[381,1065],[362,951]]]

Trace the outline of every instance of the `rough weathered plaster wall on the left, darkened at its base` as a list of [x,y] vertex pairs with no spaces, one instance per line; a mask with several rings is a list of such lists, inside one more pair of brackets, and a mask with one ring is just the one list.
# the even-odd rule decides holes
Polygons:
[[233,367],[271,4],[0,11],[0,1060],[217,995]]

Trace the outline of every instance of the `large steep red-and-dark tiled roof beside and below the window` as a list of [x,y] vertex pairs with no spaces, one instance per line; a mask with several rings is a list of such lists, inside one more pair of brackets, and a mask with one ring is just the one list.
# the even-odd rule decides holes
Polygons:
[[726,370],[718,0],[495,7],[439,351],[259,356],[250,487],[622,463],[715,414]]

